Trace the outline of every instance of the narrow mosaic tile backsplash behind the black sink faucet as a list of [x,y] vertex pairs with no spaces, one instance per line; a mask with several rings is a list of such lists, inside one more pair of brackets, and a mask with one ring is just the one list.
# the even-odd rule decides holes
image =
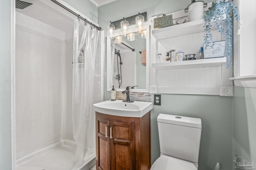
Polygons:
[[[150,94],[143,92],[130,92],[130,100],[149,102]],[[116,92],[117,100],[126,100],[126,94],[122,94],[122,92]]]

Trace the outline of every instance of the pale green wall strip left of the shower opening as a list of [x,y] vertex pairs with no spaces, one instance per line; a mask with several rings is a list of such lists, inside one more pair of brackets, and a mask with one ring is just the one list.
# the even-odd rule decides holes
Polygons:
[[[12,1],[0,1],[0,169],[12,169],[11,25]],[[14,9],[13,9],[14,10]]]

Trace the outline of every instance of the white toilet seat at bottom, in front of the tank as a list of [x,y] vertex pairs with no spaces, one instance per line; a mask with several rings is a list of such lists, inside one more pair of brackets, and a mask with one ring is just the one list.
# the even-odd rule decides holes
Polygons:
[[197,170],[197,168],[190,162],[162,155],[150,170]]

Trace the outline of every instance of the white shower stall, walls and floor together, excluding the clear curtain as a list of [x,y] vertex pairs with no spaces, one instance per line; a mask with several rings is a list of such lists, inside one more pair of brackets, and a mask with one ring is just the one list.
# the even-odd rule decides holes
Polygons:
[[[16,11],[16,170],[88,170],[95,164],[95,146],[88,148],[90,154],[82,162],[74,164],[77,145],[73,137],[70,36],[74,18],[63,18],[72,25],[72,32]],[[98,54],[93,103],[103,100],[103,52]],[[88,138],[95,140],[95,127],[89,128]]]

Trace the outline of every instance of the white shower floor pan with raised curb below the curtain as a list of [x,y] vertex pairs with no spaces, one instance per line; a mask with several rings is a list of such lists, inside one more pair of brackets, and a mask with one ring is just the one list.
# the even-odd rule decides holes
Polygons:
[[90,170],[95,165],[95,150],[88,152],[92,154],[74,167],[75,145],[65,140],[18,158],[15,170]]

